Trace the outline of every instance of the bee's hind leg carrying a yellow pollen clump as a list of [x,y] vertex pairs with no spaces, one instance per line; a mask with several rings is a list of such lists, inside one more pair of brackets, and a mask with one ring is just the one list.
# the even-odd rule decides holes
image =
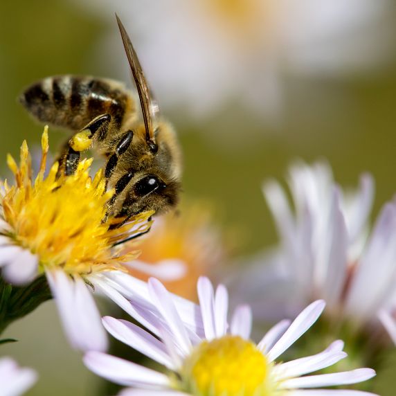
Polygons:
[[109,114],[102,114],[71,136],[70,140],[64,145],[64,150],[60,156],[58,174],[64,173],[66,176],[70,176],[75,172],[80,162],[80,152],[91,147],[92,138],[96,134],[98,141],[102,141],[106,137],[110,120],[111,116]]

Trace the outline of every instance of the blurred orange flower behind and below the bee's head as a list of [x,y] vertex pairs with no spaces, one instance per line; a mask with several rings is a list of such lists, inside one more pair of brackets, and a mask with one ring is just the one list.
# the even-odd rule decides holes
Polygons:
[[[162,266],[163,272],[156,271],[156,278],[162,275],[161,282],[169,291],[196,300],[199,276],[207,275],[224,261],[226,249],[206,206],[190,202],[181,206],[180,212],[181,215],[169,213],[156,219],[150,233],[142,236],[142,253],[129,273],[147,280],[151,269]],[[179,278],[174,278],[175,273],[168,271],[167,264],[179,264]]]

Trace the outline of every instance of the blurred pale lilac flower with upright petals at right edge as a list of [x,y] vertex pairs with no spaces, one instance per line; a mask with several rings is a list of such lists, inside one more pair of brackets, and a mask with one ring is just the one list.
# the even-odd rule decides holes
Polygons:
[[[291,206],[278,182],[263,188],[280,249],[238,275],[235,287],[262,319],[323,298],[330,318],[361,329],[379,320],[396,343],[396,204],[384,206],[369,235],[374,186],[368,174],[357,191],[344,192],[328,165],[301,163],[291,167],[288,184]],[[271,307],[260,304],[263,294]]]

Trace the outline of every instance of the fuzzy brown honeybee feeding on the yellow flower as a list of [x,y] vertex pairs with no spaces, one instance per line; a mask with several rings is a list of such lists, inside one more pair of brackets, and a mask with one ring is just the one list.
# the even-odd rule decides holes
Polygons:
[[172,127],[159,116],[131,40],[116,19],[143,122],[132,92],[120,82],[102,78],[45,78],[28,87],[20,100],[39,121],[74,131],[58,159],[59,172],[73,174],[81,153],[91,147],[105,156],[107,185],[115,190],[108,213],[125,218],[125,223],[144,210],[159,214],[177,205],[181,152]]

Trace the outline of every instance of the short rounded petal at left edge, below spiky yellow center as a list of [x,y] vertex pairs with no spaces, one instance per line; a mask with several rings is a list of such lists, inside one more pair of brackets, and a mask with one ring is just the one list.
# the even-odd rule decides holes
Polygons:
[[[7,248],[3,248],[1,251],[4,249]],[[10,253],[12,247],[10,246],[8,249],[8,253]],[[5,253],[7,254],[7,251]],[[4,280],[13,285],[25,285],[31,282],[37,276],[37,267],[39,264],[37,255],[30,253],[26,249],[21,249],[17,254],[13,250],[10,254],[12,258],[10,258],[10,261],[3,267],[1,272]]]

